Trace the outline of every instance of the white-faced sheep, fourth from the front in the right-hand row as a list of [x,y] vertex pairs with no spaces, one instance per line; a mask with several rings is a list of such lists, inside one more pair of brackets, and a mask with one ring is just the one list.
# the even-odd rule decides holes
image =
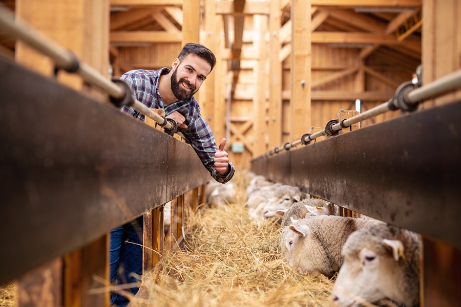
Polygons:
[[299,187],[282,185],[274,190],[274,196],[267,202],[261,214],[265,218],[280,217],[276,212],[291,207],[296,202],[309,197],[309,194],[302,192]]

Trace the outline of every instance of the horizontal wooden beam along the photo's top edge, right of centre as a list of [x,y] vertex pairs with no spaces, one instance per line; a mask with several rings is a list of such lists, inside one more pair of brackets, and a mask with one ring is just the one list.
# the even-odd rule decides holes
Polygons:
[[420,7],[422,0],[312,0],[312,6],[332,6],[332,7]]

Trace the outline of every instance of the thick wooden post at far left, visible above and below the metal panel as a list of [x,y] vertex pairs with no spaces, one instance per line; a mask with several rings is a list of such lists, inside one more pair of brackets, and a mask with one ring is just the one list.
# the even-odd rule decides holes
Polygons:
[[[109,78],[109,8],[109,0],[17,0],[16,16]],[[16,43],[15,59],[30,70],[47,76],[54,75],[54,62],[20,40]],[[57,79],[73,89],[90,93],[98,99],[107,99],[107,93],[90,88],[76,74],[59,71]],[[52,112],[50,110],[50,114]],[[18,305],[33,304],[24,298],[34,296],[37,291],[41,295],[51,293],[51,296],[35,302],[36,305],[108,305],[109,293],[88,295],[92,288],[107,286],[100,283],[100,280],[109,280],[107,246],[106,235],[19,279]],[[100,280],[96,282],[94,276]],[[42,277],[47,279],[43,280]]]

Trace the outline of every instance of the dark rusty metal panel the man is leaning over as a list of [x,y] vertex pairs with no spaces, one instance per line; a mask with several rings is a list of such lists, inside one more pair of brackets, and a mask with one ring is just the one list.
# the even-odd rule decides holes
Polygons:
[[[0,75],[0,283],[167,202],[169,184],[202,182],[170,174],[179,141],[118,108],[2,57]],[[195,169],[187,146],[173,157]]]

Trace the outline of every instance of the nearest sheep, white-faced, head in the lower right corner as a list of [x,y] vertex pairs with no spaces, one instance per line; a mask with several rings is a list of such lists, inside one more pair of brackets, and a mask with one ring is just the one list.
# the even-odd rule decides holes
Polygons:
[[404,306],[420,303],[421,235],[388,224],[352,233],[343,247],[331,298],[334,306],[359,306],[384,298]]

